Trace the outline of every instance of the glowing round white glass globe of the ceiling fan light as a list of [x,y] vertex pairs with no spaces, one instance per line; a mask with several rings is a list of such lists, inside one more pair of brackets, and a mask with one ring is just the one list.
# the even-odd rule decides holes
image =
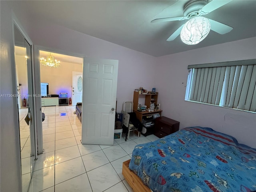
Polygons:
[[211,29],[210,21],[204,17],[194,17],[188,20],[181,32],[180,38],[182,42],[188,45],[198,44],[209,34]]

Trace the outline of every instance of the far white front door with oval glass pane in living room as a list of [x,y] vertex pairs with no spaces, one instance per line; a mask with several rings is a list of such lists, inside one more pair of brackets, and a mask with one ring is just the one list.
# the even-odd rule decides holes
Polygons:
[[72,105],[82,102],[83,95],[83,73],[72,71]]

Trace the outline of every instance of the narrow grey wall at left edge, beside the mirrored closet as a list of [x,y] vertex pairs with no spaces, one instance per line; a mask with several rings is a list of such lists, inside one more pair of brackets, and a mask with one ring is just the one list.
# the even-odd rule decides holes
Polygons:
[[[1,18],[1,65],[0,94],[16,94],[14,40],[11,10],[0,1]],[[18,107],[15,97],[0,98],[0,191],[21,191],[20,139]]]

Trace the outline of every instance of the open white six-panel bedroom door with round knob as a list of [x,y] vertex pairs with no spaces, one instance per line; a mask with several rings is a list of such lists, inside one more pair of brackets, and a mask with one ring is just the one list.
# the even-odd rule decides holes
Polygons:
[[82,144],[114,144],[118,60],[84,58]]

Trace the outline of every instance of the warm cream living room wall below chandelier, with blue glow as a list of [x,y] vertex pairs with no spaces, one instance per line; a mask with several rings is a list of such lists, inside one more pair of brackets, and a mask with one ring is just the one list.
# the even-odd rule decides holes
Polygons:
[[40,79],[49,84],[49,94],[68,93],[72,97],[72,71],[82,72],[82,64],[61,62],[60,67],[40,65]]

